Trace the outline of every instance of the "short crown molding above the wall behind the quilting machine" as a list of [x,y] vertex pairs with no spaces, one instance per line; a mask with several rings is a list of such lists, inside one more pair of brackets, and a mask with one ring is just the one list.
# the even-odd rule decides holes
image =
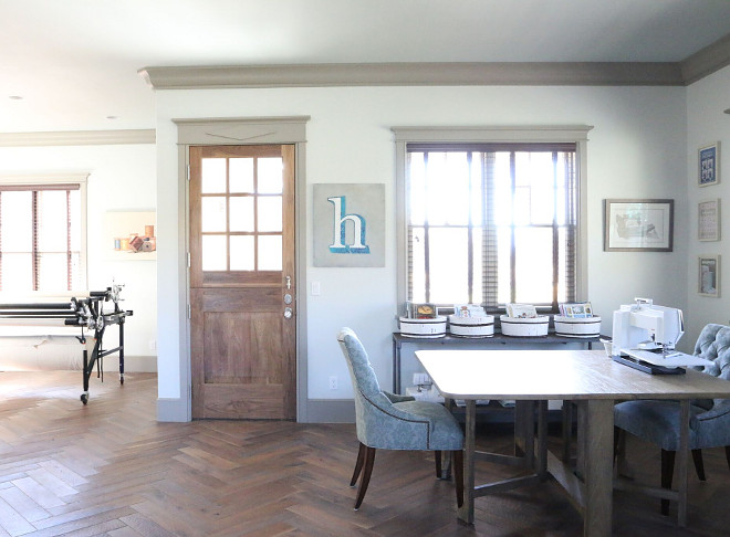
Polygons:
[[0,133],[0,147],[155,144],[155,129]]

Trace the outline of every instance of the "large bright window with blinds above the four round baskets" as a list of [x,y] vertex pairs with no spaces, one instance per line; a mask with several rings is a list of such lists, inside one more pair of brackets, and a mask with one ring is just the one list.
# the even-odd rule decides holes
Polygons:
[[582,298],[581,147],[400,141],[400,301],[497,313],[513,302],[557,312]]

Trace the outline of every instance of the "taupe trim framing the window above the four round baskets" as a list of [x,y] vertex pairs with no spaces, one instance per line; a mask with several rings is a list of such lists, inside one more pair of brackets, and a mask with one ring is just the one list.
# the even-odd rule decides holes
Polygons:
[[587,140],[588,125],[564,126],[483,126],[483,127],[392,127],[396,149],[396,288],[397,307],[407,301],[408,293],[408,208],[406,196],[406,146],[414,143],[574,143],[577,171],[577,255],[575,266],[575,298],[587,299]]

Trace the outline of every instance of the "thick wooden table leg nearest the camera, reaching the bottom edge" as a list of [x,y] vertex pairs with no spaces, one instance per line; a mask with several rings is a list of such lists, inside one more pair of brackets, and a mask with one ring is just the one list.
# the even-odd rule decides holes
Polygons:
[[[585,512],[583,535],[612,535],[614,401],[592,399],[582,401],[585,419]],[[580,419],[580,418],[578,418]]]

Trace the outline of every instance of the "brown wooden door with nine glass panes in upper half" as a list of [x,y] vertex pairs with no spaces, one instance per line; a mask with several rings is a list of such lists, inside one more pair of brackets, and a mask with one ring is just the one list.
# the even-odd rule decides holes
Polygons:
[[190,147],[192,418],[296,412],[294,146]]

